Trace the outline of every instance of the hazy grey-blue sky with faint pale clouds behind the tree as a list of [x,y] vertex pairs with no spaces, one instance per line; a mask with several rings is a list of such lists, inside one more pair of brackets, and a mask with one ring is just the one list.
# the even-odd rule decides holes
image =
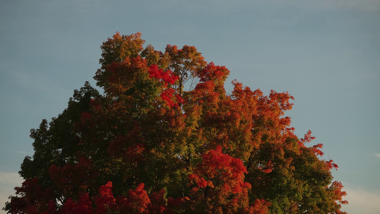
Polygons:
[[[310,129],[338,164],[352,214],[380,211],[380,0],[2,0],[0,208],[33,155],[30,129],[56,117],[100,68],[116,31],[146,45],[195,46],[264,94],[288,91],[298,137]],[[0,214],[5,213],[0,211]]]

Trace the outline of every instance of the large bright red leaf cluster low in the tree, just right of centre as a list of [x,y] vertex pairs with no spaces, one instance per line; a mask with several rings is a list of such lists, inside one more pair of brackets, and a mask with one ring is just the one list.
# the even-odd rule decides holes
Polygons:
[[196,173],[189,176],[194,185],[190,200],[204,201],[212,212],[235,213],[248,205],[251,185],[244,182],[244,173],[247,170],[243,162],[217,146],[202,155]]

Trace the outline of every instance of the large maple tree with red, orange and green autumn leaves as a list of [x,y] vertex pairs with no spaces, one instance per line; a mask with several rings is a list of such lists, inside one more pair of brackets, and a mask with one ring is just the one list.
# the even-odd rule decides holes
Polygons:
[[[338,166],[299,139],[292,96],[252,91],[195,47],[116,33],[101,46],[100,94],[88,82],[32,129],[33,157],[11,214],[342,214]],[[188,87],[188,88],[187,88]],[[320,157],[318,157],[320,156]]]

